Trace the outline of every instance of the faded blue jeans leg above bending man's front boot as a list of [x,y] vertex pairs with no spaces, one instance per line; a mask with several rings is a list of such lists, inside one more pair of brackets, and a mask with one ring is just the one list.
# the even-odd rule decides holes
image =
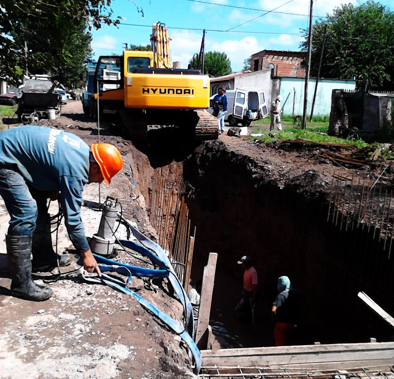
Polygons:
[[32,235],[37,219],[37,204],[24,177],[0,165],[0,195],[10,214],[9,235]]

